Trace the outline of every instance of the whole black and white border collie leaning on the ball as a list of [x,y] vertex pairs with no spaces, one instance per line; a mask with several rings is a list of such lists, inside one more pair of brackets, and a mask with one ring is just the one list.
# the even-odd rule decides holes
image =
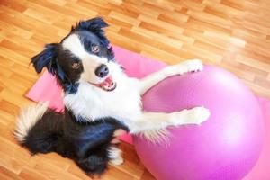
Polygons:
[[141,95],[168,76],[202,70],[200,60],[168,66],[143,79],[126,76],[117,64],[97,17],[72,26],[59,43],[51,43],[31,58],[37,73],[47,67],[62,86],[65,111],[55,112],[48,104],[23,110],[14,132],[32,154],[56,152],[73,159],[89,175],[101,174],[110,162],[123,162],[121,150],[112,143],[122,129],[143,133],[156,140],[167,126],[201,124],[210,116],[203,107],[179,112],[143,112]]

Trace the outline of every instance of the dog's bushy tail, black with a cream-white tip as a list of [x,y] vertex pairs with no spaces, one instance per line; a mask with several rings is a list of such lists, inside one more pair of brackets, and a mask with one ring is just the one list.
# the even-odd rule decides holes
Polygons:
[[17,119],[14,135],[32,154],[56,151],[61,121],[48,103],[31,105]]

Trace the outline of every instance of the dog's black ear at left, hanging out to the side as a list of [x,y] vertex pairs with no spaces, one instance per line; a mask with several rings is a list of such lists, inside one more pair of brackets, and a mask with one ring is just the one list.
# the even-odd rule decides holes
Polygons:
[[49,73],[56,73],[57,43],[47,44],[45,49],[31,58],[31,63],[37,73],[40,73],[44,67],[47,67]]

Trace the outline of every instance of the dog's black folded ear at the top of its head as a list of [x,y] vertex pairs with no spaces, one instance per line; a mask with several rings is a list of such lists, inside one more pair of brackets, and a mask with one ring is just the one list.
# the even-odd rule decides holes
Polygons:
[[71,31],[91,31],[96,36],[102,40],[102,43],[105,47],[109,46],[109,40],[106,38],[103,28],[108,27],[108,23],[106,23],[102,17],[95,17],[90,20],[80,21],[76,24],[76,26],[71,27]]

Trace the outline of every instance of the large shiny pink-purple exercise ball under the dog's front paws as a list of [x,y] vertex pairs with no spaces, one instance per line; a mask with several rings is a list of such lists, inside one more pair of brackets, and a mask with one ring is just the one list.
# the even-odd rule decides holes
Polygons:
[[[218,67],[172,76],[143,96],[144,110],[210,109],[202,125],[169,128],[168,143],[134,136],[142,163],[158,180],[237,180],[256,164],[264,139],[257,98],[236,76]],[[168,144],[168,145],[166,145]]]

